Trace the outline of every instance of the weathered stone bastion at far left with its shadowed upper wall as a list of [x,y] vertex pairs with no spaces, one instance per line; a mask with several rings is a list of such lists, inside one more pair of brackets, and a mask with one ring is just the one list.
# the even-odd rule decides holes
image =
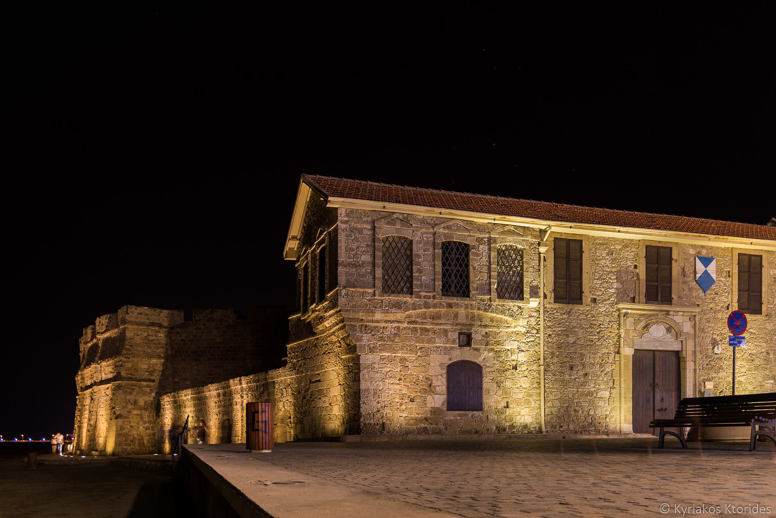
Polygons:
[[81,337],[75,449],[163,451],[171,426],[160,420],[162,394],[281,364],[286,337],[283,309],[196,309],[185,319],[182,311],[124,306],[99,317]]

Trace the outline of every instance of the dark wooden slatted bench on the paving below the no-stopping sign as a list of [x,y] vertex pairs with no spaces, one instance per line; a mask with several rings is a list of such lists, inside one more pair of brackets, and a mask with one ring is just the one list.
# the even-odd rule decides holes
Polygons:
[[[770,439],[776,445],[776,392],[684,398],[674,419],[656,419],[650,423],[650,427],[660,428],[659,448],[663,447],[666,434],[677,437],[681,447],[686,448],[684,428],[702,426],[750,426],[750,451],[754,450],[757,437]],[[679,432],[667,428],[678,428]]]

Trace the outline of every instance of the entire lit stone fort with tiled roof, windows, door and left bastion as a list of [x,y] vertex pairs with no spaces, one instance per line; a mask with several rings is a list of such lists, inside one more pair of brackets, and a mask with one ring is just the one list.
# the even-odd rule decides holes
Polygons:
[[[298,311],[126,306],[84,330],[75,447],[651,433],[680,398],[776,391],[776,226],[304,175]],[[272,347],[285,350],[272,354]],[[258,354],[257,351],[262,351]]]

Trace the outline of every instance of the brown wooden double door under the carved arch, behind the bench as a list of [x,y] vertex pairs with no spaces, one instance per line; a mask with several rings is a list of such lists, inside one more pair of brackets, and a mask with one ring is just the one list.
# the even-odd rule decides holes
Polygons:
[[674,417],[681,399],[680,364],[679,351],[633,351],[634,433],[657,435],[650,421]]

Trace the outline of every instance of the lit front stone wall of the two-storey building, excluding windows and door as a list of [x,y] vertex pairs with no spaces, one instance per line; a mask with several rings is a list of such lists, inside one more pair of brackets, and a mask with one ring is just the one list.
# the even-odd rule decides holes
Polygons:
[[[539,233],[497,223],[442,217],[339,209],[339,306],[360,364],[363,433],[514,433],[539,431],[539,300],[529,296],[539,283]],[[414,292],[383,295],[381,239],[397,234],[413,240]],[[553,239],[583,241],[581,304],[553,301]],[[470,248],[469,298],[441,295],[439,250],[442,240]],[[637,323],[662,320],[681,341],[682,396],[703,395],[711,381],[715,394],[731,393],[731,351],[726,346],[726,316],[736,308],[732,278],[736,266],[726,247],[698,247],[550,233],[546,260],[545,395],[546,430],[613,433],[629,431],[632,416],[632,347],[621,315],[639,313]],[[503,301],[495,296],[494,249],[500,243],[523,248],[525,296]],[[670,306],[645,305],[643,247],[673,247],[674,284]],[[745,250],[746,251],[746,250]],[[774,279],[776,254],[762,254],[764,285]],[[704,294],[695,282],[695,256],[717,258],[717,284]],[[641,261],[641,262],[640,262]],[[768,275],[770,272],[770,276]],[[642,284],[639,284],[641,282]],[[767,292],[763,316],[750,318],[747,349],[737,351],[736,392],[774,390],[776,378],[774,308]],[[310,309],[311,312],[314,308]],[[697,321],[696,321],[697,318]],[[458,347],[459,332],[472,333],[472,347]],[[725,344],[714,355],[714,344]],[[639,346],[641,347],[641,346]],[[483,368],[483,411],[446,410],[445,368],[468,359]]]

